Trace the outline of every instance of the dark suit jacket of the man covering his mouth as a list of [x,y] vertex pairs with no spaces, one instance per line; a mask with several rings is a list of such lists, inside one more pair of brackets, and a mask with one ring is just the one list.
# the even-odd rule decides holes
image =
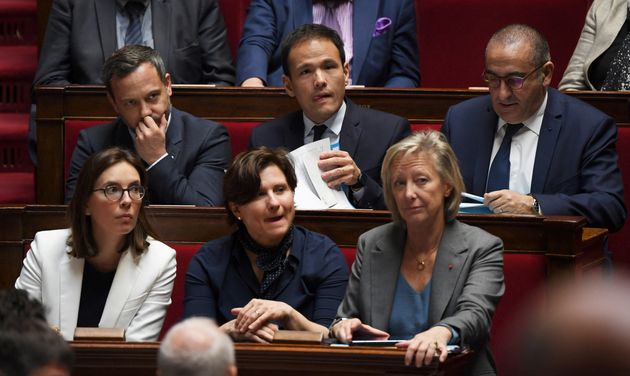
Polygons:
[[[72,153],[66,201],[74,194],[76,179],[85,160],[112,146],[135,150],[129,129],[120,118],[81,131]],[[231,154],[230,140],[222,125],[171,108],[166,151],[168,156],[148,171],[151,204],[223,204],[223,175]]]

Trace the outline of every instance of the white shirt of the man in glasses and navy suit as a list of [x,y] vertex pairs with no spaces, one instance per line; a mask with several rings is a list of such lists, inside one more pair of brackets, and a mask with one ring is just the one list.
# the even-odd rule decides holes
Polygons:
[[[538,111],[529,119],[523,122],[523,127],[512,137],[510,147],[510,190],[527,194],[531,192],[532,176],[534,173],[534,162],[536,161],[536,150],[538,149],[538,137],[542,127],[545,108],[547,107],[547,93],[545,99],[538,108]],[[490,166],[495,155],[501,147],[503,136],[505,135],[505,125],[507,122],[501,118],[497,122],[497,130],[494,134],[494,145],[492,146],[492,157]]]

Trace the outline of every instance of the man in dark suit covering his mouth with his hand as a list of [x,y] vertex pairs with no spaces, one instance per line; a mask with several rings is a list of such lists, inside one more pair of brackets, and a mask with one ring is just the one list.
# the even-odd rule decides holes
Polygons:
[[103,82],[119,118],[81,131],[66,201],[92,153],[123,146],[135,150],[147,165],[150,203],[221,205],[230,161],[227,131],[171,106],[171,78],[157,51],[139,45],[116,51],[103,66]]

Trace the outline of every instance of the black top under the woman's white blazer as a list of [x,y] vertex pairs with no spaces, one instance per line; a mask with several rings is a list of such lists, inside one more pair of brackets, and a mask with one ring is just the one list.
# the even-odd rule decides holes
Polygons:
[[83,267],[78,327],[98,327],[116,271],[101,273],[89,262]]

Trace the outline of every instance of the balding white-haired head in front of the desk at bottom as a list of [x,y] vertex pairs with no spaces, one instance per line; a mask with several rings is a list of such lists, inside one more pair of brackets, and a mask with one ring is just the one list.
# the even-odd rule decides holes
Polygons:
[[159,376],[235,376],[232,340],[208,318],[184,320],[164,337],[157,373]]

